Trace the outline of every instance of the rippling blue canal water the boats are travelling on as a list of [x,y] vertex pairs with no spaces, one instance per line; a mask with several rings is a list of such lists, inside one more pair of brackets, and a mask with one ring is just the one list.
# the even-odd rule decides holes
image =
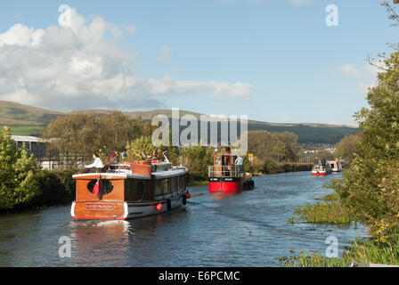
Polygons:
[[[309,172],[255,177],[256,189],[217,198],[191,187],[186,208],[132,221],[73,221],[69,207],[0,216],[0,266],[279,266],[289,249],[320,250],[329,236],[339,255],[362,226],[288,224],[296,206],[330,192]],[[71,257],[59,256],[61,236]]]

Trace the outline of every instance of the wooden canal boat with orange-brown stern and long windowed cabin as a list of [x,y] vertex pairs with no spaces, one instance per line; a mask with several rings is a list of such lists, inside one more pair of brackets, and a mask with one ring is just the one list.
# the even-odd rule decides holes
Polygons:
[[108,165],[98,173],[73,175],[76,200],[74,219],[126,220],[157,215],[184,207],[188,169],[160,160]]

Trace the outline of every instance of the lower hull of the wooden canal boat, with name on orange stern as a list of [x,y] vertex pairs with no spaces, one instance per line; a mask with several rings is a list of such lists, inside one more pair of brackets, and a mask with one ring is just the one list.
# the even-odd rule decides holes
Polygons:
[[151,202],[74,201],[70,215],[74,219],[127,220],[166,213],[184,207],[186,201],[185,193],[180,197]]

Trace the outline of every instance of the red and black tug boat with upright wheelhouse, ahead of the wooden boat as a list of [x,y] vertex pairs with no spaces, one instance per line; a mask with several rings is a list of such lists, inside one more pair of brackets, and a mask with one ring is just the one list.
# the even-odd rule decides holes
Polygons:
[[208,169],[209,193],[232,194],[254,189],[252,175],[235,165],[237,158],[238,155],[230,153],[230,148],[225,154],[214,156],[214,165]]

